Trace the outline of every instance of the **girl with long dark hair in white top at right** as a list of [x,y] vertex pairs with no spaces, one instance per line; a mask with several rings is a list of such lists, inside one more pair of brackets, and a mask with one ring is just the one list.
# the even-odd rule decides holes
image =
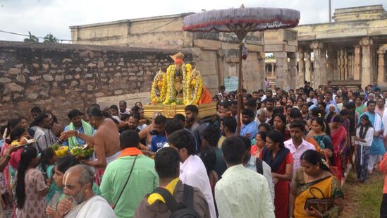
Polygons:
[[357,179],[364,183],[368,178],[369,149],[374,139],[374,126],[369,121],[367,114],[360,118],[360,123],[356,127],[355,139],[355,164]]

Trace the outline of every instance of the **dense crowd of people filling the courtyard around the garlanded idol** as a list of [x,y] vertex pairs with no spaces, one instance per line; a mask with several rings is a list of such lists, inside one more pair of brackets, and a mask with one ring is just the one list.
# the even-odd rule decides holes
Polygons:
[[[239,128],[237,92],[219,90],[216,116],[204,119],[195,105],[146,119],[141,102],[124,101],[73,109],[68,123],[39,107],[10,119],[1,128],[4,208],[18,218],[338,217],[348,166],[364,184],[376,169],[387,174],[387,90],[376,83],[242,90]],[[387,217],[387,183],[383,193]]]

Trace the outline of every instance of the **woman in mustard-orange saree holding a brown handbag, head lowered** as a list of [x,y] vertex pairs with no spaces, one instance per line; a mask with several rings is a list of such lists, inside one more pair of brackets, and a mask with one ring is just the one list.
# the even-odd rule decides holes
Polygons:
[[[307,150],[301,155],[300,161],[302,167],[297,169],[290,189],[289,217],[338,217],[344,207],[344,194],[336,176],[331,174],[317,151]],[[308,198],[314,196],[331,199],[333,206],[326,211],[319,211],[307,203]]]

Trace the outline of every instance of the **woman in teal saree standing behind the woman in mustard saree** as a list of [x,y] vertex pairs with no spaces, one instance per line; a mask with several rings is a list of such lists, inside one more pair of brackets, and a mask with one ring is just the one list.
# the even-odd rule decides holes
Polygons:
[[313,137],[319,144],[321,156],[323,158],[328,157],[330,164],[334,164],[333,145],[329,134],[326,134],[327,132],[331,133],[329,126],[325,123],[322,115],[318,114],[312,121],[312,131],[309,132],[308,136]]

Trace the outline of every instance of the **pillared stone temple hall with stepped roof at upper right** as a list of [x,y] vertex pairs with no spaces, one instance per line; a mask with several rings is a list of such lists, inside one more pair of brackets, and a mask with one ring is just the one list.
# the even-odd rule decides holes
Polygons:
[[[386,83],[387,12],[382,5],[338,8],[333,23],[298,25],[298,73],[314,87]],[[312,69],[311,57],[314,57]]]

